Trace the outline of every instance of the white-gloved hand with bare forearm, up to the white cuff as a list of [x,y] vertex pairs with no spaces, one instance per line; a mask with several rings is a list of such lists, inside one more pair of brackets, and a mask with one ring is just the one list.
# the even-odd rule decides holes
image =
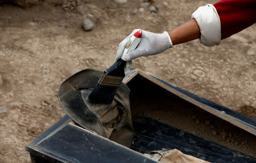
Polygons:
[[159,54],[168,48],[172,48],[173,45],[195,40],[200,37],[200,28],[195,19],[189,20],[187,23],[180,25],[170,32],[152,33],[142,30],[141,42],[139,42],[137,49],[122,56],[127,42],[129,42],[130,37],[137,31],[138,29],[134,29],[134,31],[119,44],[115,61],[121,57],[124,61],[130,61],[142,55]]

